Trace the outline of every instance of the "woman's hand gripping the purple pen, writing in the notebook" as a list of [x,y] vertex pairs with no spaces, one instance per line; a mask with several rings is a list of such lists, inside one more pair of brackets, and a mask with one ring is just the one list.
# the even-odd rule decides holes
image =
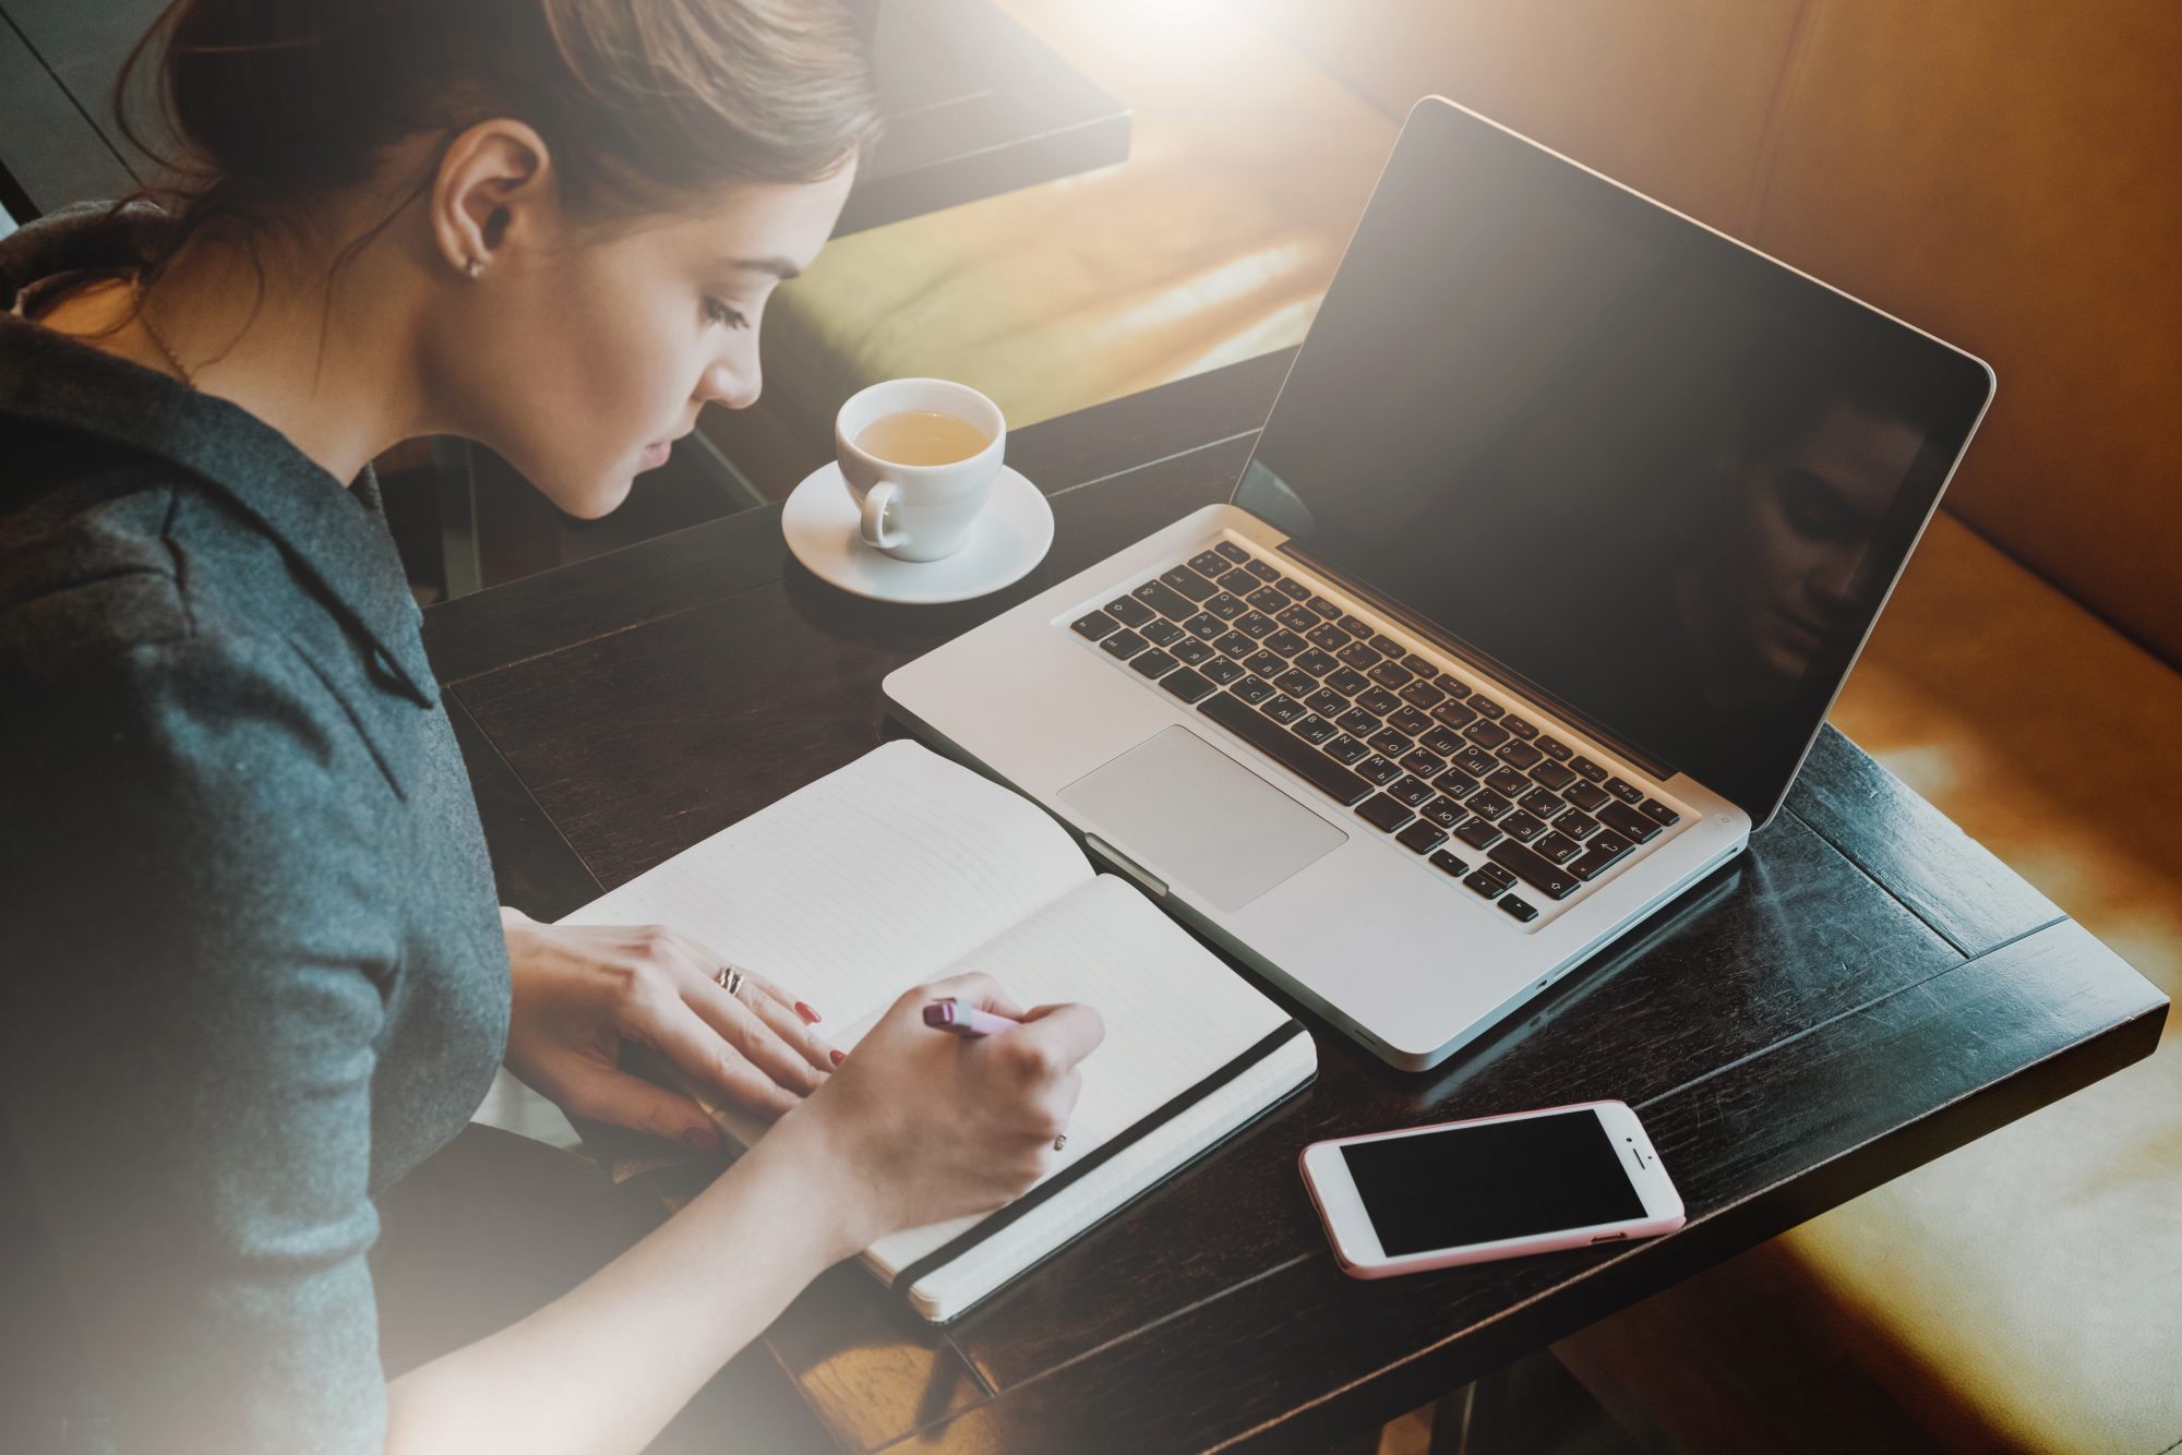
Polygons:
[[[960,1041],[923,1023],[923,1008],[945,997],[1023,1025]],[[766,1141],[823,1143],[851,1252],[899,1228],[986,1213],[1052,1165],[1082,1089],[1076,1065],[1104,1036],[1089,1006],[1023,1010],[991,975],[916,986]]]

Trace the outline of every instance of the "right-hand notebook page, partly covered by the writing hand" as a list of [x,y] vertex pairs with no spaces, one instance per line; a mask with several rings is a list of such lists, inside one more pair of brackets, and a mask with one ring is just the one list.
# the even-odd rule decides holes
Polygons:
[[[1069,890],[947,966],[949,975],[960,971],[993,975],[1023,1006],[1084,1001],[1106,1021],[1106,1041],[1082,1062],[1082,1097],[1067,1150],[1047,1176],[1095,1152],[1287,1021],[1287,1012],[1113,875]],[[895,1232],[866,1256],[892,1278],[978,1222],[962,1217]]]

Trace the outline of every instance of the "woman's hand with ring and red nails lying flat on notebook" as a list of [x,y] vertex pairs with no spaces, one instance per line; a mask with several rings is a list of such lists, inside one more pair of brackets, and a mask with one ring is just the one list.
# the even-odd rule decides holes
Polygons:
[[506,907],[500,927],[515,982],[508,1071],[576,1117],[718,1150],[720,1134],[696,1102],[622,1069],[624,1043],[768,1119],[834,1069],[801,1001],[753,975],[729,995],[714,979],[720,958],[670,929],[541,925]]

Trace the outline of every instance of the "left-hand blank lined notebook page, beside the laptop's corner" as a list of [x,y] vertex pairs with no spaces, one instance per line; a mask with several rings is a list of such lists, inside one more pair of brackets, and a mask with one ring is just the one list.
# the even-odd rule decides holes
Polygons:
[[897,739],[561,923],[670,925],[855,1025],[1089,877],[1036,805]]

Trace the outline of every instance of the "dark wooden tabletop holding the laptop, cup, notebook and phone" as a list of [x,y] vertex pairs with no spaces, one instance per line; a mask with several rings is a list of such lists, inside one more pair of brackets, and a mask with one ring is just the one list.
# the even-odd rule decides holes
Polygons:
[[[879,678],[1226,495],[1287,356],[1021,430],[1052,558],[960,606],[847,598],[777,510],[436,606],[502,894],[556,916],[882,733]],[[844,1448],[1324,1448],[2147,1056],[2167,1001],[1831,729],[1750,853],[1438,1071],[1318,1034],[1320,1075],[945,1333],[855,1267],[766,1335]],[[1665,1239],[1366,1285],[1314,1139],[1586,1097],[1639,1108]]]

